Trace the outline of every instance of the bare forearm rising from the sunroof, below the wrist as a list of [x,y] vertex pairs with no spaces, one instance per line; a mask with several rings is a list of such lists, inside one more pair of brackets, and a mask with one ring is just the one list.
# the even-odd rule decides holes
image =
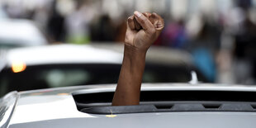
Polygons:
[[145,69],[146,51],[125,46],[121,73],[113,97],[113,106],[138,105],[140,86]]

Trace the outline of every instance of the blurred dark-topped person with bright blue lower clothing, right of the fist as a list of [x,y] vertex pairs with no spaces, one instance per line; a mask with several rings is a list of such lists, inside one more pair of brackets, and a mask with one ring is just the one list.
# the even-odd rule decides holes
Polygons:
[[213,17],[202,14],[199,31],[187,43],[198,69],[211,82],[216,82],[216,55],[220,50],[220,26]]

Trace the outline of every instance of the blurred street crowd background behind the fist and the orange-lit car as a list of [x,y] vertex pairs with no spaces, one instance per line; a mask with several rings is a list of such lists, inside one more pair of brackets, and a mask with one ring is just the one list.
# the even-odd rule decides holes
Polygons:
[[164,17],[154,47],[187,53],[206,82],[256,83],[256,0],[1,0],[0,54],[36,45],[121,44],[135,10]]

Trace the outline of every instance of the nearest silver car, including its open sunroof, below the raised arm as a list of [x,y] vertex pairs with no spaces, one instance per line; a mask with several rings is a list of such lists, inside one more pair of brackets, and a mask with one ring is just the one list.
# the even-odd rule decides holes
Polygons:
[[140,105],[120,107],[110,107],[112,84],[12,92],[1,99],[7,109],[1,110],[0,124],[9,128],[254,128],[256,88],[212,85],[143,84]]

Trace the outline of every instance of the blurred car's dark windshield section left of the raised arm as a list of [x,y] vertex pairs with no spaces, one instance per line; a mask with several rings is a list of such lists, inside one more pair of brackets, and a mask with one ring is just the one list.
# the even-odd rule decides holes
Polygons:
[[116,83],[120,64],[49,64],[28,66],[21,73],[2,70],[1,93],[83,84]]

